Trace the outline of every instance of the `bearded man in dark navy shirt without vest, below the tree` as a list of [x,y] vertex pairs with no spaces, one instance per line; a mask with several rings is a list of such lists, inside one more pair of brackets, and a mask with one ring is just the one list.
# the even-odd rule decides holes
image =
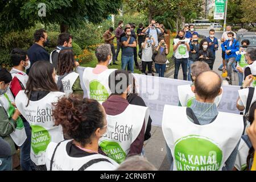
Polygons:
[[[44,47],[49,45],[48,35],[45,30],[36,30],[34,33],[35,43],[27,50],[27,56],[30,59],[32,65],[36,61],[49,61],[49,53],[44,49]],[[27,74],[30,69],[27,69]]]

